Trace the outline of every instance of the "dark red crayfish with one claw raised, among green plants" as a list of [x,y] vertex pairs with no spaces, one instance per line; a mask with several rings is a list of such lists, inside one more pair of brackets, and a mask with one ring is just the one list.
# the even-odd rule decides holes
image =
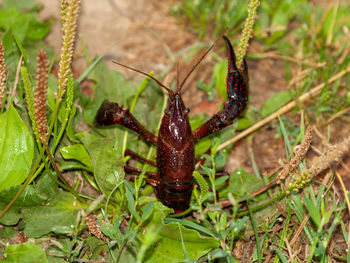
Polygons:
[[[189,109],[181,98],[181,89],[189,75],[213,48],[210,47],[196,65],[190,70],[185,79],[177,81],[175,92],[154,77],[140,70],[117,63],[123,67],[132,69],[153,79],[164,88],[169,95],[168,106],[165,109],[161,121],[158,136],[143,127],[140,122],[116,102],[105,101],[99,108],[96,122],[102,126],[120,124],[141,135],[148,143],[157,147],[156,162],[145,159],[139,154],[127,149],[125,156],[132,156],[148,164],[157,167],[157,172],[146,172],[149,176],[146,180],[154,186],[156,196],[164,205],[173,208],[175,213],[185,211],[191,200],[193,189],[193,171],[195,167],[194,145],[202,138],[217,132],[228,125],[244,110],[248,100],[248,70],[243,63],[243,69],[236,66],[235,53],[226,36],[223,36],[228,53],[228,72],[226,77],[228,102],[223,109],[212,116],[199,128],[192,131],[188,119]],[[141,174],[142,171],[124,166],[126,173]]]

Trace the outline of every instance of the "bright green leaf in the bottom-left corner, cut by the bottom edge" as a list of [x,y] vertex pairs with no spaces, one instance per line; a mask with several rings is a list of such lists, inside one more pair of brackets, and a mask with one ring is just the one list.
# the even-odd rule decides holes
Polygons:
[[45,251],[32,242],[7,246],[4,254],[4,262],[21,263],[46,263]]

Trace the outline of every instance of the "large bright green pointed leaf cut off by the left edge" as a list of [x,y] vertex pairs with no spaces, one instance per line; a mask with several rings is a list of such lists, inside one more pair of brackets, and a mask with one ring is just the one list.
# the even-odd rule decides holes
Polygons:
[[30,171],[34,142],[28,127],[11,105],[0,114],[0,192],[21,184]]

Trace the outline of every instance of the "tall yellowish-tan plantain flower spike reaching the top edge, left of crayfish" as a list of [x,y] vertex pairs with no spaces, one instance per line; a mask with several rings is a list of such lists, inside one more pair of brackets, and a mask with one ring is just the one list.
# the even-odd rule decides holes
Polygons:
[[62,47],[58,70],[58,94],[60,100],[66,92],[68,74],[71,71],[80,0],[61,1]]

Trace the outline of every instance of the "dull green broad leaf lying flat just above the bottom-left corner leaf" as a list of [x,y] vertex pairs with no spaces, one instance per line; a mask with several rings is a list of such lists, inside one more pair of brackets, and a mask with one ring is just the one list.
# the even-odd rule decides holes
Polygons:
[[79,209],[81,207],[73,195],[60,191],[55,199],[22,210],[23,232],[28,237],[41,237],[50,232],[71,234],[78,224]]

